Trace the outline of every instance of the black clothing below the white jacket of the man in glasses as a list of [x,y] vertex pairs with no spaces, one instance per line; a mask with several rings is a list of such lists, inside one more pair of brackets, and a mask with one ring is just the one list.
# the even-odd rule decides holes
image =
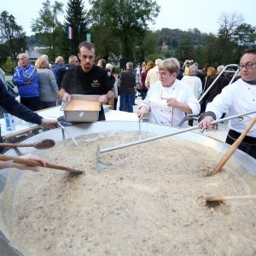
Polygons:
[[[235,143],[236,139],[240,135],[241,133],[234,130],[230,130],[226,138],[226,143],[232,145],[233,143]],[[238,148],[241,151],[245,152],[246,154],[253,156],[254,159],[256,159],[256,137],[244,137]]]

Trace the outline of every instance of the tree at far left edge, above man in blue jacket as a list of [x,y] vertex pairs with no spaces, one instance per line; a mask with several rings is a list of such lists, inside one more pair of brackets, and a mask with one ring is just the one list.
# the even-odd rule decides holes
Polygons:
[[0,57],[2,63],[10,55],[14,61],[21,51],[26,49],[26,33],[17,25],[15,17],[3,11],[0,15]]

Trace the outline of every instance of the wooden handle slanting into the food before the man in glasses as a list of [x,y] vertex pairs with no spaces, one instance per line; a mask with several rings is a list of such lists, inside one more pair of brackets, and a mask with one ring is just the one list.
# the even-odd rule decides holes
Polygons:
[[231,155],[234,154],[234,152],[236,151],[236,148],[238,148],[238,146],[240,145],[241,141],[244,139],[244,137],[246,137],[248,131],[251,130],[251,128],[253,127],[253,125],[256,122],[256,116],[253,118],[253,120],[249,123],[249,125],[247,125],[246,129],[244,131],[242,131],[240,137],[238,137],[236,139],[236,142],[233,143],[230,148],[227,150],[227,152],[224,154],[224,156],[222,157],[222,159],[218,162],[218,166],[216,166],[216,168],[213,170],[213,172],[211,173],[212,175],[215,175],[216,173],[218,173],[222,167],[224,166],[224,164],[230,159]]

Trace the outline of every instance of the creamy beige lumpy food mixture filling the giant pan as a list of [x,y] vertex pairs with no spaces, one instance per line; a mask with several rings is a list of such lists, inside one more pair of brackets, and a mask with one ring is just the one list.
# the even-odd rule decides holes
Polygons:
[[21,171],[14,195],[9,189],[1,195],[1,207],[6,207],[2,212],[9,212],[9,207],[12,212],[6,213],[1,229],[24,255],[255,252],[255,201],[206,205],[208,196],[255,194],[255,178],[246,171],[233,172],[236,164],[231,161],[223,172],[206,177],[221,158],[212,148],[168,137],[101,154],[108,168],[98,172],[98,144],[109,148],[129,143],[137,134],[76,139],[79,148],[65,140],[42,156],[50,163],[84,170],[83,174],[46,168]]

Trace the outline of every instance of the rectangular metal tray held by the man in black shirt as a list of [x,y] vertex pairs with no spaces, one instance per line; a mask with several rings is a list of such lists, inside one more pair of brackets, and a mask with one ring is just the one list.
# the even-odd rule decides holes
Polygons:
[[[91,110],[67,110],[67,106],[72,100],[84,100],[84,102],[98,102],[98,109],[96,111]],[[64,118],[69,122],[96,122],[99,119],[99,112],[101,105],[99,102],[99,95],[71,95],[71,100],[66,102],[61,111],[64,111]]]

